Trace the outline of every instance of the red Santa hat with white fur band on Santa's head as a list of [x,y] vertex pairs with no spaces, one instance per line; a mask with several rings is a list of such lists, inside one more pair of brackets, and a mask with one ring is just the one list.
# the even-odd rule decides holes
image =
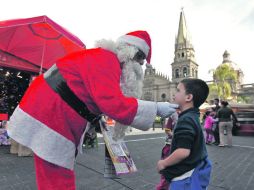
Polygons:
[[151,38],[146,31],[138,30],[134,32],[127,33],[124,36],[118,38],[117,42],[123,42],[130,45],[136,46],[146,55],[146,61],[150,64],[152,46]]

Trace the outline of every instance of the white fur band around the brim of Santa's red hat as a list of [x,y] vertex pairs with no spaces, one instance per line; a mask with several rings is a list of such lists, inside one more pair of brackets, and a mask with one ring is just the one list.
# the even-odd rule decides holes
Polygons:
[[131,35],[124,35],[119,37],[117,39],[117,42],[124,42],[124,43],[137,46],[140,50],[142,50],[145,53],[146,56],[148,56],[150,47],[147,45],[146,41],[141,38],[131,36]]

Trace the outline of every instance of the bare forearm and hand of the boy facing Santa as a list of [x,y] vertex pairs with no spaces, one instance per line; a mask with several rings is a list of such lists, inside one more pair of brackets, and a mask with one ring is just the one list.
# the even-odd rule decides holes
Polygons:
[[159,160],[157,164],[158,171],[165,169],[168,166],[175,165],[190,155],[190,149],[178,148],[169,157],[164,160]]

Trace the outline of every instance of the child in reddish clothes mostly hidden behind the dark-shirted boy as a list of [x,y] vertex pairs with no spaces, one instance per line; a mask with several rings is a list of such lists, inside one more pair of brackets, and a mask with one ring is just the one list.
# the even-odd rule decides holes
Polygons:
[[[170,148],[171,148],[171,141],[173,137],[173,129],[174,126],[177,123],[178,114],[177,112],[173,113],[171,117],[168,118],[167,124],[164,127],[165,133],[166,133],[166,140],[165,140],[165,146],[162,148],[161,151],[161,159],[165,159],[170,154]],[[161,175],[160,183],[156,186],[156,190],[168,190],[169,183],[165,179],[163,175]]]

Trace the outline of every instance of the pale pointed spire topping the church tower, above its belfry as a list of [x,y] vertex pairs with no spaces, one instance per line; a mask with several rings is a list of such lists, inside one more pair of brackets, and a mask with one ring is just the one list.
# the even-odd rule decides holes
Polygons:
[[178,34],[176,37],[176,44],[183,44],[185,42],[190,42],[190,35],[187,29],[186,20],[183,12],[183,8],[180,13],[180,20],[179,20],[179,27],[178,27]]

